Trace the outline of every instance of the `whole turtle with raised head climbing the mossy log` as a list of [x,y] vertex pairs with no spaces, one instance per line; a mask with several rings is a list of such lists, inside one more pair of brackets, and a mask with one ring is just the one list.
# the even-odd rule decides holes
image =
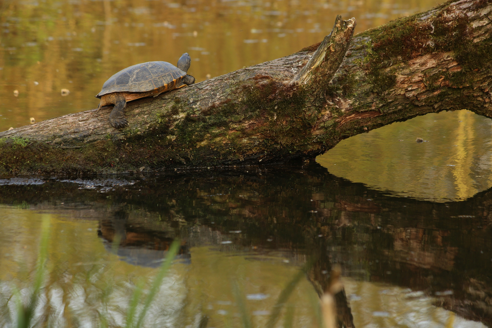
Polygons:
[[138,98],[154,96],[172,89],[182,88],[195,83],[195,78],[186,75],[191,59],[184,53],[178,60],[178,67],[167,61],[149,61],[127,67],[104,82],[96,98],[101,99],[99,106],[114,104],[109,121],[114,127],[127,124],[124,118],[126,102]]

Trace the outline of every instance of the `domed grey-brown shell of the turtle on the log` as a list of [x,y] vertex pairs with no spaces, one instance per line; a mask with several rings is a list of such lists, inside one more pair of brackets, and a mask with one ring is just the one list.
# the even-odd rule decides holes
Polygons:
[[96,95],[112,92],[145,92],[164,87],[176,86],[186,72],[167,61],[148,61],[122,69],[108,81],[104,82],[101,91]]

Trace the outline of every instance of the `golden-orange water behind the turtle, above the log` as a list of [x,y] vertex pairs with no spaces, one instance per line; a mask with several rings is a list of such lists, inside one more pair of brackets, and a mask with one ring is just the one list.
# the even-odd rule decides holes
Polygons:
[[95,108],[104,81],[139,62],[188,52],[200,82],[319,42],[338,14],[363,31],[438,2],[0,0],[0,131]]

